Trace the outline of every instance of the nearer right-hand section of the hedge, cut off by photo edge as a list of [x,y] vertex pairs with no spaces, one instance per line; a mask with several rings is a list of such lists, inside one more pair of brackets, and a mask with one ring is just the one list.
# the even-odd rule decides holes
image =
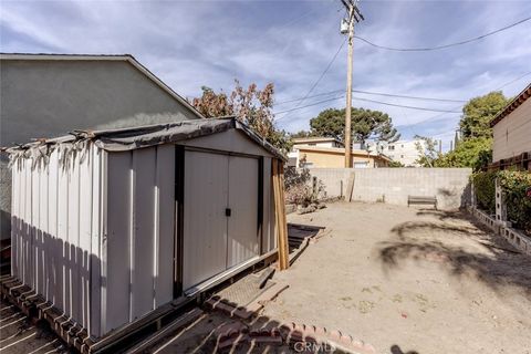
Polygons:
[[507,206],[507,218],[514,227],[531,233],[531,173],[502,170],[498,173]]

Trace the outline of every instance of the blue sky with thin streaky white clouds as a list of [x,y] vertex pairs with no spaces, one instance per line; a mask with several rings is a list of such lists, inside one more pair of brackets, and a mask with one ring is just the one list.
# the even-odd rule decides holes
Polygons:
[[[388,46],[434,46],[477,37],[531,15],[531,1],[361,1],[356,34]],[[0,50],[29,53],[131,53],[185,97],[202,85],[230,91],[233,79],[273,82],[277,102],[303,97],[344,37],[340,0],[326,1],[4,1]],[[531,72],[531,21],[485,40],[431,52],[389,52],[354,43],[354,88],[400,95],[469,100]],[[311,95],[345,87],[346,45]],[[514,95],[531,75],[502,87]],[[341,94],[340,94],[341,95]],[[435,110],[460,103],[355,94]],[[301,106],[333,98],[306,98]],[[278,104],[277,112],[298,102]],[[289,132],[344,98],[278,115]],[[459,113],[440,114],[353,101],[388,113],[404,137],[445,142]],[[420,123],[419,123],[420,122]]]

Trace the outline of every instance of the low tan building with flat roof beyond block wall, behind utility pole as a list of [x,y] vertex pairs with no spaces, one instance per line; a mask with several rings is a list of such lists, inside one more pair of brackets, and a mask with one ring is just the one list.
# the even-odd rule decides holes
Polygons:
[[[341,168],[345,166],[344,147],[319,147],[299,146],[298,165],[304,159],[306,167]],[[382,154],[368,153],[366,150],[352,150],[352,167],[354,168],[378,168],[387,167],[391,159]]]

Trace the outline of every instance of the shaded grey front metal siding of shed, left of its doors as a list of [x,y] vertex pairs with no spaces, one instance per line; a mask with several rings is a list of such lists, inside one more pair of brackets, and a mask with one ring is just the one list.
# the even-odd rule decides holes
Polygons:
[[103,333],[173,300],[175,147],[110,153],[106,171]]

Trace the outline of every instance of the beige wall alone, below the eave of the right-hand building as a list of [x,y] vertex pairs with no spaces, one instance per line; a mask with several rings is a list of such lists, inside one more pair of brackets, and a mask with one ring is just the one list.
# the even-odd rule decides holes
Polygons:
[[531,152],[531,100],[527,100],[492,127],[492,160]]

